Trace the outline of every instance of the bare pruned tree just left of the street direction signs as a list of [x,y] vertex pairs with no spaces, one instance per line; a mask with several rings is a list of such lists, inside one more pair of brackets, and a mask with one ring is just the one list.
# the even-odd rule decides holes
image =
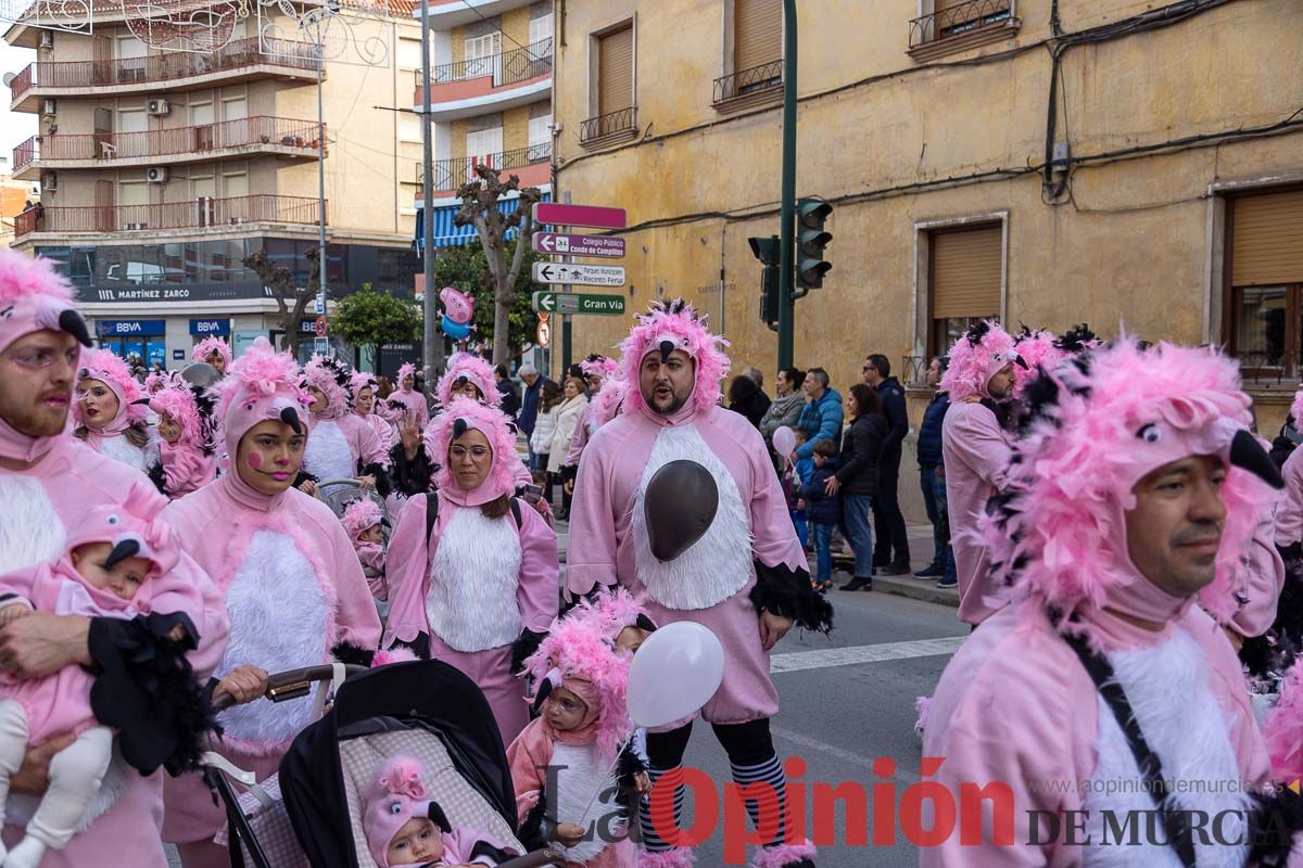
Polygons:
[[[459,226],[473,225],[489,263],[485,285],[493,290],[493,362],[504,364],[511,353],[511,308],[516,302],[516,280],[529,239],[534,234],[534,203],[543,198],[538,187],[521,187],[519,176],[506,181],[500,172],[487,165],[477,165],[478,178],[468,181],[457,190],[461,208],[452,221]],[[498,202],[508,193],[520,194],[520,207],[511,215],[498,210]],[[515,229],[516,239],[511,252],[507,252],[507,232]],[[509,263],[509,264],[508,264]],[[429,298],[429,294],[427,294]]]

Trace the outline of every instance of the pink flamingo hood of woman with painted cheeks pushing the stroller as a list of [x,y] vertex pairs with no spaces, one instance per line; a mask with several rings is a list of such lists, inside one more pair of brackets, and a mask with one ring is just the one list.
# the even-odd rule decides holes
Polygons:
[[278,419],[305,432],[310,427],[311,398],[298,387],[298,364],[289,353],[271,349],[265,337],[232,362],[225,379],[212,389],[219,439],[232,461],[240,439],[259,422]]

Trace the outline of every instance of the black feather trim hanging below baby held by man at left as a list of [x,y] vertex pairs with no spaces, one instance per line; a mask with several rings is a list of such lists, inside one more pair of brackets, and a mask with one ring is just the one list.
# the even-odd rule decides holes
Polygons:
[[[182,638],[169,638],[177,626]],[[185,656],[197,643],[198,632],[184,614],[91,618],[90,707],[95,720],[119,730],[122,759],[141,774],[160,765],[173,776],[198,769],[208,733],[222,731]]]

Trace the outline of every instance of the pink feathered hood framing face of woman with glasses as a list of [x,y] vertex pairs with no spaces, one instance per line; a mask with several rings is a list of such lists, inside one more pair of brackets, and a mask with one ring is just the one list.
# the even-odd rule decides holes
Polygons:
[[[464,491],[448,468],[448,445],[466,431],[480,431],[493,449],[493,467],[489,479],[474,491]],[[463,506],[483,506],[503,495],[516,491],[516,429],[500,410],[486,407],[478,401],[457,397],[447,405],[425,428],[425,452],[439,466],[434,475],[435,487],[444,497]]]

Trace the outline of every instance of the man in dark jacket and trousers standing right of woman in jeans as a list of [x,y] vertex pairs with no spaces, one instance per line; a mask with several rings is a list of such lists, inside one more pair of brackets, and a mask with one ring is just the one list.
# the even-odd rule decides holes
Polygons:
[[900,381],[891,376],[891,362],[881,353],[874,353],[864,360],[864,381],[877,390],[887,420],[887,436],[882,444],[882,461],[878,465],[878,492],[873,497],[873,524],[878,530],[878,549],[873,553],[873,561],[874,566],[882,569],[882,575],[908,575],[909,535],[904,527],[900,498],[896,496],[896,483],[900,480],[900,450],[904,436],[909,433],[904,389]]

